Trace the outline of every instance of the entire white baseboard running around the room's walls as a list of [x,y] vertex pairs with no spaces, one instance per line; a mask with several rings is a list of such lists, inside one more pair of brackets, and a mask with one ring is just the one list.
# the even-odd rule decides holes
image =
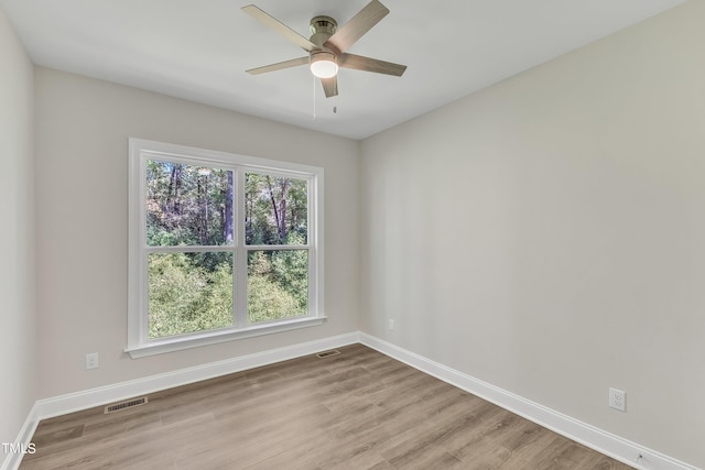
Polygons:
[[[658,451],[631,442],[619,436],[604,431],[589,424],[579,422],[538,403],[514,395],[481,380],[458,372],[438,362],[426,359],[395,345],[364,332],[351,332],[324,338],[301,345],[272,349],[241,356],[224,361],[212,362],[188,369],[121,382],[113,385],[90,389],[82,392],[39,400],[28,416],[15,442],[30,444],[40,420],[53,416],[102,406],[133,396],[213,379],[216,376],[268,365],[302,356],[313,354],[326,349],[361,342],[383,354],[404,362],[444,382],[465,390],[502,408],[525,417],[541,426],[581,442],[601,453],[642,470],[698,470]],[[641,458],[639,458],[641,456]],[[0,470],[19,468],[22,455],[7,455]]]

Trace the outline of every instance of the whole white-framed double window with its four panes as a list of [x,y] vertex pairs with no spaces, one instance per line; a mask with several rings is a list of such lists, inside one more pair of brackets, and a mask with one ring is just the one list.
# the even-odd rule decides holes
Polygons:
[[319,325],[323,170],[130,139],[133,357]]

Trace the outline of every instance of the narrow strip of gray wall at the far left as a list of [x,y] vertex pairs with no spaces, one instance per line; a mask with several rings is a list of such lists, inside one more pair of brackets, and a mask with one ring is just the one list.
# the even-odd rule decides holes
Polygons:
[[0,442],[14,442],[36,398],[34,89],[32,63],[2,8],[0,63]]

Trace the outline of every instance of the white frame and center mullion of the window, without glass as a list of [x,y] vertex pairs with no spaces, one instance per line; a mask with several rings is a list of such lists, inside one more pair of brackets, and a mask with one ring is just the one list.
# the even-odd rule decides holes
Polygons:
[[[323,168],[238,155],[192,146],[184,146],[144,139],[129,140],[129,261],[128,261],[128,345],[124,349],[132,358],[172,352],[187,348],[230,341],[253,336],[269,335],[323,324],[325,315],[323,285]],[[235,172],[234,190],[234,244],[218,247],[232,251],[234,255],[234,326],[197,331],[187,335],[150,339],[148,334],[148,253],[147,245],[147,161],[161,160],[193,165],[213,165]],[[282,245],[246,245],[245,173],[248,171],[305,178],[308,183],[308,315],[248,325],[247,308],[247,253],[257,250],[288,249]],[[292,247],[291,249],[293,249]],[[239,272],[236,274],[236,271]],[[237,305],[239,304],[239,305]]]

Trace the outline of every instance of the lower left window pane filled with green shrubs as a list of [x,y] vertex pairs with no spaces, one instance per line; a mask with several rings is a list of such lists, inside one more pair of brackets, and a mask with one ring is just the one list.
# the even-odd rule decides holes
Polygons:
[[150,253],[150,338],[230,326],[232,253]]

